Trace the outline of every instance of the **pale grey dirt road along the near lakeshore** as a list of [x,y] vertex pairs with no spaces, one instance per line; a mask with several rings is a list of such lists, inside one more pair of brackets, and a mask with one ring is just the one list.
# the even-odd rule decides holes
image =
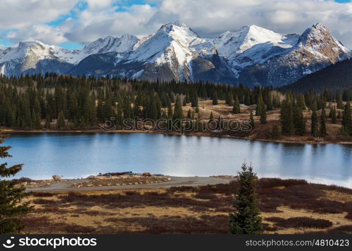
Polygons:
[[205,186],[215,184],[227,184],[231,180],[236,178],[222,178],[222,177],[173,177],[170,181],[156,183],[156,184],[142,184],[142,185],[125,185],[125,186],[104,186],[104,187],[80,187],[80,188],[69,188],[73,183],[88,181],[87,179],[80,180],[67,180],[59,183],[52,183],[45,187],[27,189],[28,191],[79,191],[79,190],[110,190],[110,189],[134,189],[134,188],[167,188],[173,186]]

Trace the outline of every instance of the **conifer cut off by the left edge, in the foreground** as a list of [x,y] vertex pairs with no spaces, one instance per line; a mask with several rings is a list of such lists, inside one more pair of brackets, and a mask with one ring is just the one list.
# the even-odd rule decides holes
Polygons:
[[[0,144],[3,144],[8,135],[0,131]],[[0,158],[11,158],[8,153],[10,146],[0,147]],[[19,233],[24,228],[19,216],[30,212],[29,202],[21,203],[22,199],[29,196],[25,188],[15,187],[15,183],[4,178],[10,178],[22,170],[23,164],[7,167],[7,163],[0,164],[0,234]]]

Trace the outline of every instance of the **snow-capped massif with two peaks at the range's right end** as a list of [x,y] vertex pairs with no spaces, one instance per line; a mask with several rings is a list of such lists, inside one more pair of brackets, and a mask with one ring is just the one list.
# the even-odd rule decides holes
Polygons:
[[351,55],[320,23],[301,36],[252,25],[226,32],[214,43],[232,65],[237,82],[251,85],[281,86]]

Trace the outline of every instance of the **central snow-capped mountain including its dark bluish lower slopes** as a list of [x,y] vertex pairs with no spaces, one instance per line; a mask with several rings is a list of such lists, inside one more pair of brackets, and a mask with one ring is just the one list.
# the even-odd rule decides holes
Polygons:
[[[115,61],[111,61],[114,59]],[[212,40],[203,39],[180,22],[169,23],[137,42],[129,53],[94,54],[83,59],[72,74],[118,75],[151,80],[209,80],[234,78]]]

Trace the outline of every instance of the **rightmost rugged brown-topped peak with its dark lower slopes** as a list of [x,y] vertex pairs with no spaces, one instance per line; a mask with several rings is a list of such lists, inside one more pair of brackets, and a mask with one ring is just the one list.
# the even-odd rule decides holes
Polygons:
[[351,56],[351,52],[320,23],[308,28],[291,48],[271,54],[274,56],[241,69],[238,81],[281,86]]

